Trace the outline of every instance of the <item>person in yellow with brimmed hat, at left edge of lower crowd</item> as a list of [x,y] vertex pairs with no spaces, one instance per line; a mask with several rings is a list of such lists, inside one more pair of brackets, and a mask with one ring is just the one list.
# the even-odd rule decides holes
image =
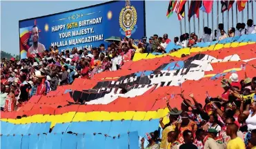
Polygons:
[[168,132],[174,131],[175,130],[175,121],[177,121],[179,115],[181,114],[182,110],[178,110],[177,108],[172,108],[169,112],[169,123],[166,123],[164,125],[163,123],[163,118],[159,120],[160,126],[163,129],[161,132],[161,143],[160,143],[160,148],[167,148],[168,147]]

